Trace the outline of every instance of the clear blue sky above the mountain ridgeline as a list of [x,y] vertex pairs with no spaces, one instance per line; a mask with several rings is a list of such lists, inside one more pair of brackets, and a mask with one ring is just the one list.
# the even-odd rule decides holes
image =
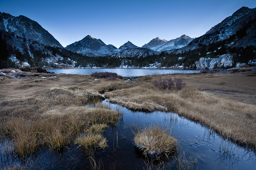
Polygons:
[[128,40],[196,38],[242,6],[255,8],[256,0],[0,0],[1,12],[38,22],[64,47],[86,35],[117,48]]

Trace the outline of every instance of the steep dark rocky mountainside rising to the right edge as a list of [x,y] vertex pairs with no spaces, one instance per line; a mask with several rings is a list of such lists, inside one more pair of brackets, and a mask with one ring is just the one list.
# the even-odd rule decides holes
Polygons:
[[[234,12],[232,16],[225,18],[204,35],[192,40],[187,46],[178,49],[176,52],[194,50],[201,46],[209,46],[212,43],[220,44],[224,40],[228,40],[227,44],[223,42],[224,45],[230,47],[256,46],[255,28],[256,8],[242,7]],[[218,48],[220,47],[218,46]]]

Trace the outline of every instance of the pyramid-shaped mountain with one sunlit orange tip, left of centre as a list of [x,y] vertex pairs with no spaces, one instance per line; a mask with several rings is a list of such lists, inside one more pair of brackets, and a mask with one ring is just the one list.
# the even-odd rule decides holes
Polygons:
[[90,35],[87,35],[82,40],[76,41],[73,44],[66,46],[65,48],[76,53],[92,53],[94,55],[111,54],[116,50],[115,46],[107,46],[100,39],[95,39]]

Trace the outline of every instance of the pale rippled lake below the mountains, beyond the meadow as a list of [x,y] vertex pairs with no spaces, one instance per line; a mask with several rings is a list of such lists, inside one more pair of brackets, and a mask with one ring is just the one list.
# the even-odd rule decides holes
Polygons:
[[[90,68],[90,69],[51,69],[47,70],[56,74],[82,74],[89,75],[93,72],[113,72],[121,76],[144,76],[153,74],[189,74],[199,73],[202,70],[186,70],[186,69],[156,69],[156,68]],[[209,70],[205,70],[209,71]],[[227,70],[214,70],[219,73],[227,73]]]

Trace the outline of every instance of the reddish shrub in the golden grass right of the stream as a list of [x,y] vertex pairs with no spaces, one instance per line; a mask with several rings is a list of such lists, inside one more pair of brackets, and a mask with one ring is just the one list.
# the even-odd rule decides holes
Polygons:
[[154,82],[154,85],[160,89],[180,90],[185,86],[185,83],[180,78],[168,78],[157,80]]

